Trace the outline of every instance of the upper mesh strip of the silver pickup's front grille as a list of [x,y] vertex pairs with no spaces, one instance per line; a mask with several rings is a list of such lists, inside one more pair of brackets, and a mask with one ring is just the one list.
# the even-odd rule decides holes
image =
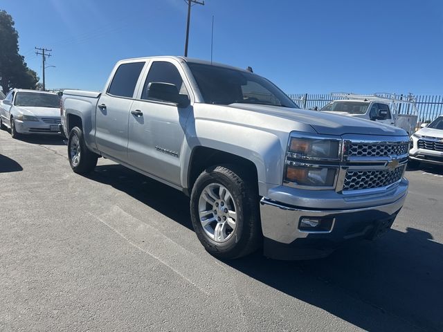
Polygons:
[[347,151],[352,157],[403,156],[409,151],[409,142],[401,143],[361,143],[351,142]]

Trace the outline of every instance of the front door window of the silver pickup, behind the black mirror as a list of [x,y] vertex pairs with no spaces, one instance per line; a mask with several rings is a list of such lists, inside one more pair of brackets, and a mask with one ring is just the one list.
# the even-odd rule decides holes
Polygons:
[[181,78],[178,69],[176,68],[176,66],[174,66],[174,64],[171,64],[170,62],[156,61],[152,63],[150,71],[149,73],[147,73],[145,84],[143,85],[141,99],[152,99],[148,96],[148,87],[149,84],[152,82],[174,84],[175,86],[177,86],[179,94],[188,95],[188,91],[186,90],[186,86],[183,83],[183,79]]

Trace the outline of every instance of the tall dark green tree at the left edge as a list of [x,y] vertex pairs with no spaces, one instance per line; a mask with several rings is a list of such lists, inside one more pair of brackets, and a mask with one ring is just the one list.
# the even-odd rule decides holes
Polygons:
[[12,88],[36,89],[39,78],[19,55],[19,34],[12,17],[0,10],[0,85],[6,93]]

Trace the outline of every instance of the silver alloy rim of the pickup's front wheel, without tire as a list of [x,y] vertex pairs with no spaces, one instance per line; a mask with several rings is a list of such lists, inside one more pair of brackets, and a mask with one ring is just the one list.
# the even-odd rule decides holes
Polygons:
[[199,218],[210,239],[224,242],[233,236],[237,227],[237,207],[226,187],[211,183],[204,188],[199,198]]

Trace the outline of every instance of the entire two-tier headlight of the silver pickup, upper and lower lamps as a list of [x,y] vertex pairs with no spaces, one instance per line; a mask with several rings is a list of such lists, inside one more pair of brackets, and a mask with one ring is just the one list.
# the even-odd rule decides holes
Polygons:
[[341,138],[291,133],[284,183],[306,189],[332,189],[341,158]]

